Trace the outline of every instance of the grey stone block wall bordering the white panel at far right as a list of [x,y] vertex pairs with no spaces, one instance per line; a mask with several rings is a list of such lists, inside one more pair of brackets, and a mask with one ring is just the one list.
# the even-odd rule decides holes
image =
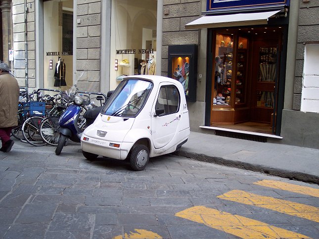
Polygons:
[[300,1],[293,110],[300,110],[305,43],[319,42],[319,1]]

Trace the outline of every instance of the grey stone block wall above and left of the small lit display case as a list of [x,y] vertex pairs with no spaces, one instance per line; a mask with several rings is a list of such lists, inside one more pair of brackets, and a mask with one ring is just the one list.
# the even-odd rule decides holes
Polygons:
[[185,24],[200,17],[200,0],[163,0],[162,76],[168,71],[168,46],[198,44],[199,31]]

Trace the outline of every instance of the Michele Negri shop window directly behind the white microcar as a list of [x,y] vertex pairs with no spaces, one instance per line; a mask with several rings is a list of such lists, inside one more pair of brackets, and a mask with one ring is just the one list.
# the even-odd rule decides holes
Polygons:
[[110,89],[128,75],[156,75],[157,0],[112,0]]

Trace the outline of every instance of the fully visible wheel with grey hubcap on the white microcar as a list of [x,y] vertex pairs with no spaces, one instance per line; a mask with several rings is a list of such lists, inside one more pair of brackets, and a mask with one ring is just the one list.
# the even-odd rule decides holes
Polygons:
[[143,144],[138,144],[131,152],[130,163],[134,171],[141,171],[149,160],[149,149]]

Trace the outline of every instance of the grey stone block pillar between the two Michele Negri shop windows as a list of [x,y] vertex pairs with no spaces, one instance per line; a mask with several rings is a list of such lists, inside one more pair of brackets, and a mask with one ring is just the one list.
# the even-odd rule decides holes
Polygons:
[[79,82],[78,86],[94,92],[100,91],[100,18],[100,0],[77,1],[77,77],[88,70],[86,81]]

